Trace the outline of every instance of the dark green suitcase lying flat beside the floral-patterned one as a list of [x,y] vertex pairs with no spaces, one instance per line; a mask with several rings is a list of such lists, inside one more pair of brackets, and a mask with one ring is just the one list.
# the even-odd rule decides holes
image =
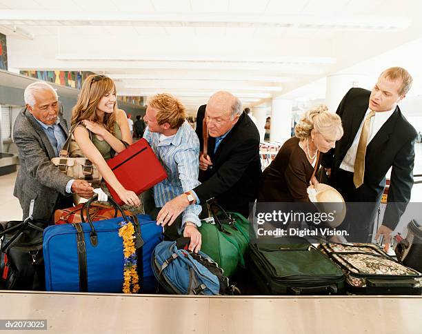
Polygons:
[[248,269],[263,295],[343,292],[341,268],[305,239],[301,244],[250,244]]

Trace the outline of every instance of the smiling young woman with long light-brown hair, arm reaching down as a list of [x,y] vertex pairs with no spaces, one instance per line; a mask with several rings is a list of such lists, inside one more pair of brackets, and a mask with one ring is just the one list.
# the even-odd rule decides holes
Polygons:
[[[106,163],[114,153],[125,149],[125,143],[132,144],[128,119],[123,110],[117,108],[116,87],[112,79],[105,75],[90,75],[83,82],[81,94],[72,110],[72,126],[80,124],[74,130],[83,154],[96,164],[103,179],[116,190],[121,200],[134,213],[143,213],[143,206],[138,195],[125,189]],[[92,141],[90,134],[92,132]],[[110,195],[106,184],[101,188]]]

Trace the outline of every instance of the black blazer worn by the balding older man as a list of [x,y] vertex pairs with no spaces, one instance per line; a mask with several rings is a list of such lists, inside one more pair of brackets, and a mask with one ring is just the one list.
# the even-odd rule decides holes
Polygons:
[[[202,124],[204,116],[199,117],[197,122]],[[202,133],[199,137],[202,137]],[[215,197],[225,210],[248,217],[249,203],[257,199],[261,178],[257,126],[243,112],[232,130],[221,141],[215,154],[214,147],[215,138],[209,137],[208,155],[212,168],[202,173],[199,179],[202,184],[193,190],[201,203]]]

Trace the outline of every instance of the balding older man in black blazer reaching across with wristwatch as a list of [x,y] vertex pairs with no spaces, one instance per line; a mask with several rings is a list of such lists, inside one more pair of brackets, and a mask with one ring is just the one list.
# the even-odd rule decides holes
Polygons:
[[[165,204],[157,216],[162,224],[172,224],[191,202],[205,204],[212,197],[225,210],[248,217],[249,203],[257,198],[261,178],[259,132],[242,112],[241,102],[230,92],[217,92],[210,97],[204,117],[209,138],[208,155],[199,157],[202,184],[189,195],[180,195]],[[197,121],[202,123],[202,119]]]

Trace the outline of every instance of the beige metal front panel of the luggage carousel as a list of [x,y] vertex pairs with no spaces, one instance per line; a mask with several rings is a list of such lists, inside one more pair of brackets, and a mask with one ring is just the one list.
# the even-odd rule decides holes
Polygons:
[[0,314],[2,320],[47,320],[50,333],[416,334],[422,328],[422,297],[0,291]]

